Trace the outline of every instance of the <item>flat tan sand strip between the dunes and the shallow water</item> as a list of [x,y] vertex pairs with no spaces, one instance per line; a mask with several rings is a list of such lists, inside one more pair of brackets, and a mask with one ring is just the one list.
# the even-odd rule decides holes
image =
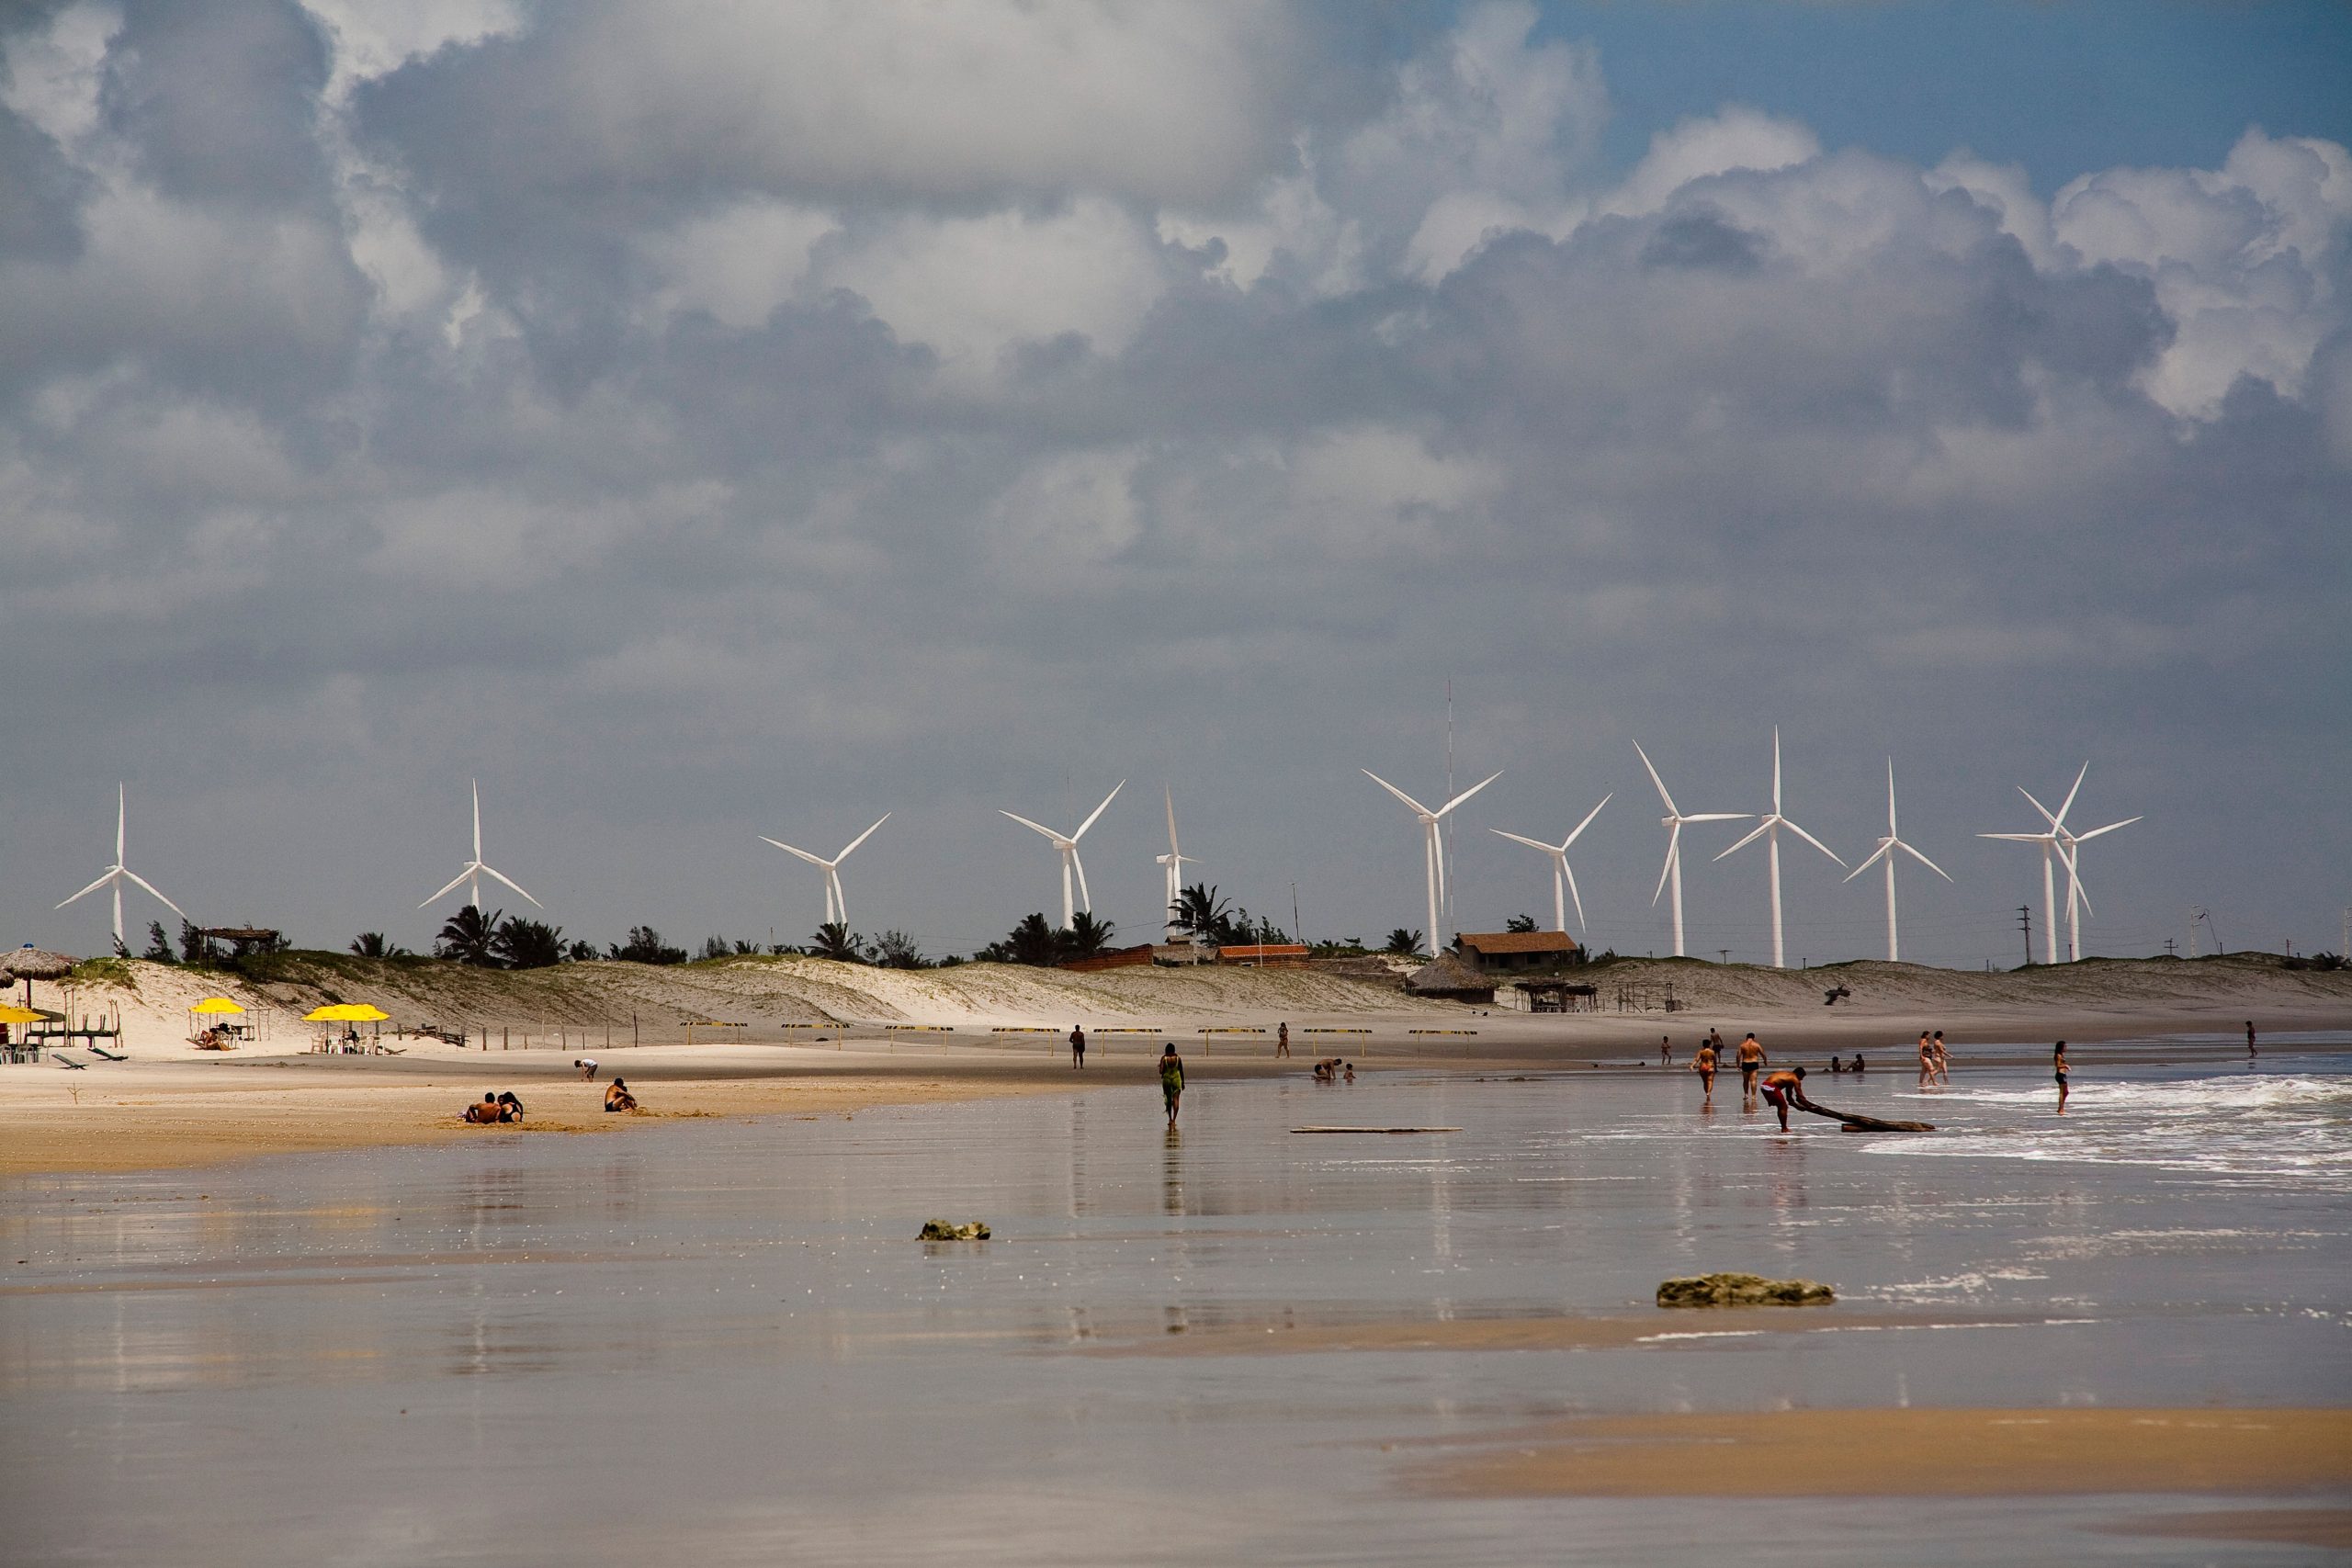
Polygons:
[[[2103,1046],[2100,1027],[2110,1020],[2044,1020],[2065,1025],[2077,1044],[2077,1074],[2096,1081],[2103,1063],[2145,1065],[2178,1063],[2199,1067],[2244,1065],[2244,1053],[2223,1041],[2150,1039],[2145,1027],[2124,1030],[2122,1044]],[[2136,1020],[2138,1023],[2138,1020]],[[2178,1023],[2178,1020],[2176,1020]],[[2091,1025],[2091,1027],[2077,1027]],[[1639,1037],[1625,1039],[1625,1032]],[[1359,1072],[1583,1072],[1682,1077],[1686,1046],[1677,1048],[1672,1067],[1630,1058],[1649,1025],[1628,1023],[1611,1030],[1613,1039],[1573,1044],[1543,1039],[1458,1039],[1458,1048],[1435,1041],[1378,1039],[1296,1039],[1289,1060],[1272,1058],[1272,1044],[1251,1039],[1225,1053],[1202,1051],[1200,1039],[1185,1041],[1185,1072],[1192,1081],[1242,1081],[1305,1077],[1317,1056],[1348,1053]],[[1661,1030],[1677,1032],[1677,1030]],[[1693,1039],[1698,1025],[1684,1025],[1679,1037]],[[1980,1067],[2037,1067],[2039,1044],[1987,1046],[1969,1041],[1976,1030],[1955,1034],[1955,1070],[1966,1077]],[[2331,1041],[2274,1041],[2260,1058],[2267,1067],[2291,1070],[2298,1058],[2340,1056],[2352,1037],[2338,1030]],[[1726,1030],[1729,1034],[1729,1030]],[[1773,1060],[1818,1060],[1818,1048],[1849,1048],[1853,1041],[1809,1039],[1783,1044],[1795,1030],[1769,1032]],[[1178,1037],[1181,1039],[1181,1037]],[[1872,1037],[1875,1044],[1882,1037]],[[844,1041],[847,1044],[847,1041]],[[1367,1048],[1369,1046],[1369,1048]],[[1903,1044],[1877,1046],[1886,1053],[1872,1081],[1900,1081],[1907,1070]],[[400,1145],[437,1145],[459,1138],[536,1138],[548,1133],[619,1133],[633,1126],[691,1119],[743,1117],[830,1117],[898,1105],[943,1105],[1014,1093],[1075,1093],[1124,1086],[1148,1091],[1155,1084],[1155,1051],[1143,1041],[1120,1041],[1089,1051],[1084,1072],[1068,1065],[1068,1051],[1056,1041],[1047,1048],[887,1048],[882,1041],[858,1041],[856,1048],[828,1046],[626,1046],[602,1051],[593,1084],[574,1077],[569,1058],[555,1051],[456,1051],[409,1056],[259,1056],[259,1058],[165,1058],[101,1063],[87,1072],[52,1067],[0,1070],[0,1180],[78,1178],[132,1171],[181,1171],[268,1154],[318,1154]],[[626,1077],[644,1088],[644,1110],[604,1114],[602,1091],[612,1077]],[[1884,1074],[1884,1079],[1882,1079]],[[485,1091],[513,1088],[529,1107],[529,1119],[510,1126],[470,1126],[461,1110]]]

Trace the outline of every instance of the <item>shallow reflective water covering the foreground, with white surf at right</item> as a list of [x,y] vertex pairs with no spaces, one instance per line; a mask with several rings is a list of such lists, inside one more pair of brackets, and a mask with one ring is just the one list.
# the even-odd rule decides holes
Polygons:
[[[2105,1530],[2152,1497],[1414,1486],[1581,1413],[2352,1403],[2345,1058],[2180,1056],[2084,1051],[2065,1119],[2039,1070],[1809,1079],[1915,1138],[1783,1138],[1736,1077],[1376,1072],[1202,1081],[1174,1135],[1122,1086],[16,1180],[0,1561],[2312,1561]],[[1703,1269],[1842,1326],[1475,1338]],[[1322,1324],[1468,1338],[1244,1347]]]

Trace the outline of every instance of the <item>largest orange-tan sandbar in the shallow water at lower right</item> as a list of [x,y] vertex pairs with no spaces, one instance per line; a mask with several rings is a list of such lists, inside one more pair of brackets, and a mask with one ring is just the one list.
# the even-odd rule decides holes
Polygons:
[[[2352,1410],[1762,1410],[1510,1434],[1446,1497],[2293,1495],[2352,1486]],[[2161,1486],[2152,1486],[2152,1481]]]

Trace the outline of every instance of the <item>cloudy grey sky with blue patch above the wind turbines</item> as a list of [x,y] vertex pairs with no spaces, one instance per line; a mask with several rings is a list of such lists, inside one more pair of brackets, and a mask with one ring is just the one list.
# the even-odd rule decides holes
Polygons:
[[[115,0],[0,21],[0,936],[1548,912],[1663,832],[1884,830],[1905,957],[2336,947],[2352,903],[2340,5]],[[1693,830],[1691,947],[1766,952]],[[1790,957],[1875,879],[1785,858]],[[456,900],[449,900],[456,903]],[[508,900],[513,903],[513,900]],[[160,907],[132,898],[134,929]],[[2037,912],[2039,919],[2039,912]]]

